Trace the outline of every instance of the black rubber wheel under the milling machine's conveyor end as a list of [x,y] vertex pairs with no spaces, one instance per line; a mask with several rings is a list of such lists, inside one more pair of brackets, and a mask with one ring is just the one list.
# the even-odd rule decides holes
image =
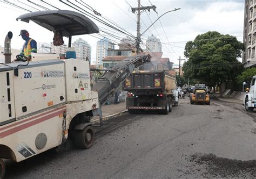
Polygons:
[[83,131],[76,130],[75,145],[79,148],[88,149],[93,145],[95,133],[91,126],[85,127]]

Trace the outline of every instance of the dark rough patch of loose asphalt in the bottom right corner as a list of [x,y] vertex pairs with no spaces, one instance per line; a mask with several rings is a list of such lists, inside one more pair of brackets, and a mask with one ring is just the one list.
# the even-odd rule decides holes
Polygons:
[[201,174],[204,177],[256,177],[256,160],[232,160],[214,154],[195,154],[189,160],[207,170]]

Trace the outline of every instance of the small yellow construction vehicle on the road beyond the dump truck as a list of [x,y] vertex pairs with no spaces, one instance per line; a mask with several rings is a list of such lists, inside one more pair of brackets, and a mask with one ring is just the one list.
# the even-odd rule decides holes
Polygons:
[[190,104],[210,105],[210,95],[207,93],[205,84],[196,84],[193,94],[190,96]]

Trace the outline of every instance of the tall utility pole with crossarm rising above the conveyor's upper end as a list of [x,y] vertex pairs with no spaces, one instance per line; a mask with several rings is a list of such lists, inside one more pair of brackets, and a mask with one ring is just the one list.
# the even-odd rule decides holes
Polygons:
[[[145,11],[148,10],[150,11],[150,9],[153,9],[154,11],[156,11],[156,6],[155,5],[151,5],[151,6],[140,6],[140,0],[138,0],[138,8],[132,8],[132,12],[135,13],[135,11],[137,11],[137,37],[136,37],[136,53],[139,54],[140,52],[140,46],[139,43],[141,41],[140,39],[140,15]],[[143,10],[142,12],[140,12],[140,10]]]

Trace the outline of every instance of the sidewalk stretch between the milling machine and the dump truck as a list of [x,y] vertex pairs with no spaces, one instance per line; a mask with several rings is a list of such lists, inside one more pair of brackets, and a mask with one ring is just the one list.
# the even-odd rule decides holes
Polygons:
[[[106,120],[111,117],[119,116],[120,114],[126,112],[126,102],[121,102],[119,104],[109,104],[102,106],[102,117]],[[99,120],[99,116],[95,116],[91,121]]]

